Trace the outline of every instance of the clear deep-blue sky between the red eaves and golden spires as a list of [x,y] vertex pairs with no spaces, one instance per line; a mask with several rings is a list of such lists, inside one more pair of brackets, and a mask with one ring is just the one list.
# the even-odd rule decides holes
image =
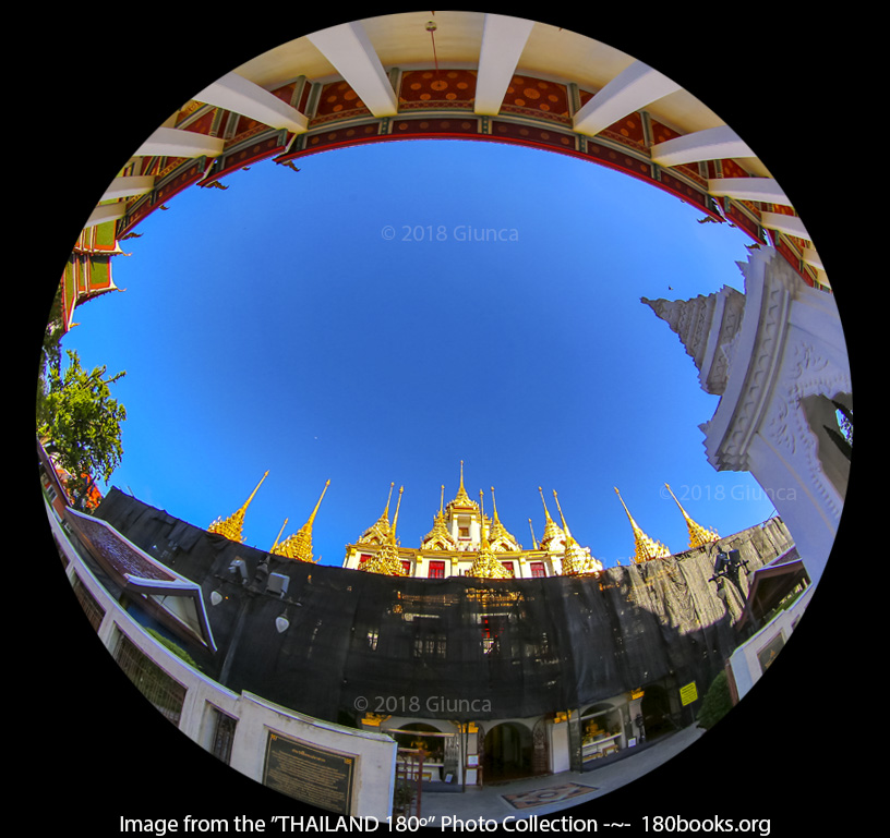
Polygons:
[[540,485],[606,566],[633,554],[614,486],[675,551],[686,527],[665,482],[721,535],[773,514],[749,475],[708,464],[698,425],[717,397],[640,303],[743,291],[738,230],[594,163],[495,143],[381,143],[299,167],[180,194],[122,243],[124,291],[76,313],[64,348],[127,371],[112,485],[207,526],[268,470],[244,530],[268,549],[329,479],[313,542],[333,564],[390,482],[399,539],[419,546],[461,460],[522,545],[529,518],[543,532]]

